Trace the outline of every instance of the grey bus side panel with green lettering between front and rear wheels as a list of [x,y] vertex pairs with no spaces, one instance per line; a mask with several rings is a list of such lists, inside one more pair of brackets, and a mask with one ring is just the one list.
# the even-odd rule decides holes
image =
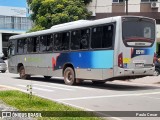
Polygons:
[[56,63],[54,63],[53,59],[58,55],[59,53],[47,53],[25,56],[26,73],[32,75],[62,77],[62,69],[60,67],[54,69]]

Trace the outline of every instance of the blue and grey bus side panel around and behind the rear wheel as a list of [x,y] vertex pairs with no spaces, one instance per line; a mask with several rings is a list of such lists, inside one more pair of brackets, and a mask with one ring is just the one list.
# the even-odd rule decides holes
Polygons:
[[76,77],[104,80],[113,77],[113,50],[61,53],[55,69],[66,63],[74,66]]

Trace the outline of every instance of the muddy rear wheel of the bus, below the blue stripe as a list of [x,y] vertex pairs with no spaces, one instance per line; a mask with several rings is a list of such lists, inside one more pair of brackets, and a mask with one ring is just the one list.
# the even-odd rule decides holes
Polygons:
[[75,85],[76,84],[75,72],[71,67],[67,67],[64,70],[64,82],[66,85]]

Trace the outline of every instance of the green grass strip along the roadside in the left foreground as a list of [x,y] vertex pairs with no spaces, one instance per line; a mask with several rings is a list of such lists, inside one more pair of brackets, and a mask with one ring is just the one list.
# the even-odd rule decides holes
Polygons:
[[[40,120],[102,120],[102,118],[97,117],[93,113],[88,113],[87,111],[82,111],[80,109],[56,103],[51,100],[40,98],[34,95],[29,96],[29,94],[17,90],[0,91],[0,99],[6,104],[23,112],[40,111],[42,113],[45,113],[47,111],[50,111],[50,113],[47,113],[52,117],[49,116],[37,118]],[[69,114],[66,112],[68,112]],[[60,114],[60,117],[53,117],[53,114]]]

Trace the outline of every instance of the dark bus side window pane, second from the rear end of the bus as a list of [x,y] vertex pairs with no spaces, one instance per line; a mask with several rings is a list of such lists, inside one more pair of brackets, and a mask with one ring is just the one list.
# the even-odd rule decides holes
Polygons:
[[102,27],[92,28],[91,48],[102,47]]

